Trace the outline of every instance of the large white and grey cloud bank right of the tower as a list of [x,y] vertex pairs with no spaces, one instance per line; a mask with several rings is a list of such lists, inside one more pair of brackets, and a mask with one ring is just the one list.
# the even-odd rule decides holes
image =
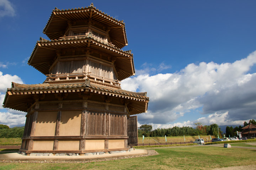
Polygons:
[[[223,119],[223,124],[243,123],[256,116],[256,73],[247,73],[255,64],[256,51],[234,63],[191,63],[180,72],[156,75],[140,71],[136,77],[123,80],[122,88],[148,92],[148,113],[138,115],[141,124],[172,126],[176,119],[199,107],[203,108],[202,115],[211,115],[200,119],[204,124],[217,118]],[[193,121],[178,124],[192,126]]]

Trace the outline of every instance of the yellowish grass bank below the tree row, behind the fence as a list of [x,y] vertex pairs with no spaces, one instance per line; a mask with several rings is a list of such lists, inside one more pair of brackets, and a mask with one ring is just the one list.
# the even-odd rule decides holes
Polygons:
[[[211,136],[212,138],[215,138],[214,136]],[[210,136],[200,136],[200,138],[203,138],[204,141],[210,140]],[[198,139],[197,136],[185,136],[185,141],[195,141]],[[167,136],[166,137],[167,142],[184,142],[183,136]],[[165,143],[165,137],[145,137],[144,143]],[[138,143],[142,143],[142,137],[138,137]]]

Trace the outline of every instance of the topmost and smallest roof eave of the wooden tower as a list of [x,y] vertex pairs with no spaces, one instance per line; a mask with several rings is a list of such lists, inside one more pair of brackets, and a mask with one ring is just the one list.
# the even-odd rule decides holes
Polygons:
[[110,27],[109,35],[112,43],[118,48],[128,45],[125,24],[123,21],[110,17],[104,12],[99,11],[95,7],[85,7],[69,10],[53,10],[43,33],[49,39],[58,39],[63,36],[65,29],[68,27],[68,21],[78,21],[84,19],[92,19],[93,21]]

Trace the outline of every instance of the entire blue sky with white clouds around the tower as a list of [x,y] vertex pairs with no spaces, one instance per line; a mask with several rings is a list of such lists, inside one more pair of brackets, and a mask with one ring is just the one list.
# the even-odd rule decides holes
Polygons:
[[[123,89],[147,91],[140,124],[242,124],[256,113],[256,1],[20,1],[0,0],[0,96],[11,82],[45,76],[30,57],[52,10],[89,6],[126,23],[136,75]],[[132,84],[132,85],[131,85]],[[25,113],[0,108],[0,124],[22,126]]]

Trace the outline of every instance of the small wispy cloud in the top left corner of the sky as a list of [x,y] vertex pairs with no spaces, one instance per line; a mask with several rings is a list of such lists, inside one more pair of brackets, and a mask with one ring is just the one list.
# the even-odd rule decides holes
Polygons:
[[16,15],[14,5],[8,0],[0,0],[0,17]]

